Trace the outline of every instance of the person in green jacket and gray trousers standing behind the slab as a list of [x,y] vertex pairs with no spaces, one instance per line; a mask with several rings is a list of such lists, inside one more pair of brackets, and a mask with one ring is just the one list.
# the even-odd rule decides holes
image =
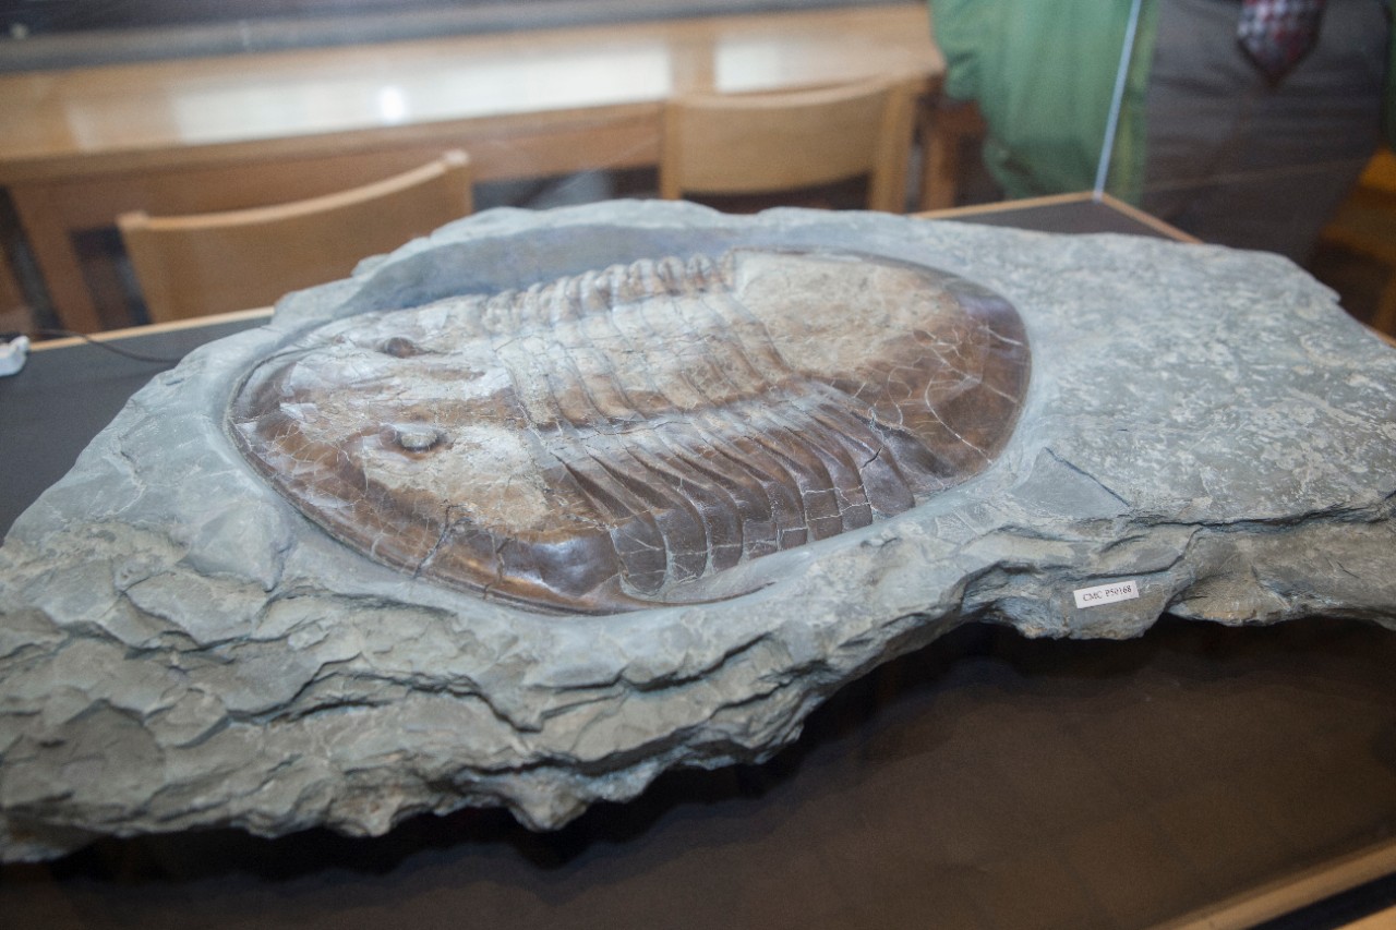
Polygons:
[[1280,36],[1293,61],[1242,43],[1252,0],[928,0],[945,94],[979,105],[1008,197],[1103,179],[1199,239],[1302,263],[1396,141],[1392,0],[1262,1],[1284,27],[1315,3],[1311,42]]

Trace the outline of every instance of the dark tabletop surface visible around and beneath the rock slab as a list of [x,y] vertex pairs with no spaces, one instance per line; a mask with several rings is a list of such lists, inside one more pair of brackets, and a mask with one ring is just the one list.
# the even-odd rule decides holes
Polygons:
[[[962,219],[1167,235],[1113,202]],[[265,314],[119,338],[174,356]],[[0,380],[21,508],[161,364],[60,345]],[[556,834],[212,831],[0,869],[14,926],[1242,927],[1396,873],[1396,635],[1166,619],[1127,642],[970,624],[764,765],[662,776]],[[1189,916],[1191,915],[1191,916]],[[1191,923],[1175,923],[1180,919]],[[1198,923],[1206,920],[1206,923]]]

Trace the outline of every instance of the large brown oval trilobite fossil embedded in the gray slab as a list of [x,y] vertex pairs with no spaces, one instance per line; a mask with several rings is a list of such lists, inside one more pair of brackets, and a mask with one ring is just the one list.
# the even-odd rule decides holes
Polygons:
[[253,370],[229,422],[362,553],[610,613],[723,596],[725,568],[974,475],[1027,370],[1016,311],[963,279],[738,249],[328,324]]

